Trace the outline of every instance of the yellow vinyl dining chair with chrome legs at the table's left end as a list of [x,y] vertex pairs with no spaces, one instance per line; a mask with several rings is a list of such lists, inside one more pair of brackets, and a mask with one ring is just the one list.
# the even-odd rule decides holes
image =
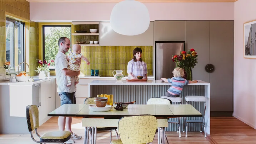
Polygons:
[[[71,138],[71,132],[65,130],[58,130],[54,132],[48,132],[40,136],[37,133],[37,128],[39,128],[39,111],[36,105],[29,105],[26,107],[26,118],[27,118],[27,127],[29,129],[30,135],[32,140],[36,143],[45,144],[45,143],[62,143],[66,144],[65,142],[69,139],[72,140],[73,144],[75,143],[74,140]],[[40,141],[37,141],[33,137],[33,131],[37,137],[40,138]]]

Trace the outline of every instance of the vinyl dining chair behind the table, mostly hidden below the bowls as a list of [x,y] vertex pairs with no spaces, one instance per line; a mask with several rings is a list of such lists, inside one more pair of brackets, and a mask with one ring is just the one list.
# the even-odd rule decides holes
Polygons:
[[[84,100],[84,104],[95,104],[95,101],[94,101],[94,97],[88,97]],[[85,127],[85,129],[87,129],[87,131],[89,131],[89,135],[90,137],[92,137],[92,128],[91,127]],[[105,130],[109,130],[110,132],[110,142],[112,140],[112,132],[111,130],[115,130],[116,132],[116,139],[118,139],[118,133],[117,133],[117,127],[97,127],[97,131],[105,131]],[[87,133],[86,131],[86,133]],[[89,144],[89,135],[86,135],[86,142],[87,144]]]

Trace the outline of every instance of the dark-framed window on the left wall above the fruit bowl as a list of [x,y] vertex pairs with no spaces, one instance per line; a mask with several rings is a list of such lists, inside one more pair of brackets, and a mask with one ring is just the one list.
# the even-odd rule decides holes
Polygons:
[[10,72],[25,71],[25,23],[6,17],[5,34],[6,34],[6,60],[10,62]]

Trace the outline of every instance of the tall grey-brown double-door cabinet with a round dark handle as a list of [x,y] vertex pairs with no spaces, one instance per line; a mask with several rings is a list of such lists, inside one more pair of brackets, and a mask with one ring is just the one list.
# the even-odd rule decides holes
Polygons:
[[[233,111],[234,21],[186,21],[186,50],[199,55],[193,79],[211,83],[211,111]],[[205,66],[214,65],[207,73]]]

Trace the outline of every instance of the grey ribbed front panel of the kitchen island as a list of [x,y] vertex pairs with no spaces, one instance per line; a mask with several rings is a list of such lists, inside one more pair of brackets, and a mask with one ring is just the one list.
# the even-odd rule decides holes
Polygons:
[[[151,97],[161,97],[169,89],[170,86],[152,86],[152,85],[91,85],[91,93],[93,97],[99,94],[113,94],[114,102],[131,102],[136,101],[135,104],[147,104],[147,100]],[[182,104],[185,104],[185,96],[199,95],[205,96],[204,85],[185,85],[181,92]],[[203,113],[204,103],[191,102],[199,112]],[[187,117],[188,120],[201,120],[202,117]],[[171,121],[177,121],[178,118],[171,118]],[[181,118],[181,131],[183,129],[183,118]],[[166,131],[176,131],[177,124],[169,124]],[[189,124],[188,131],[199,132],[200,124]]]

